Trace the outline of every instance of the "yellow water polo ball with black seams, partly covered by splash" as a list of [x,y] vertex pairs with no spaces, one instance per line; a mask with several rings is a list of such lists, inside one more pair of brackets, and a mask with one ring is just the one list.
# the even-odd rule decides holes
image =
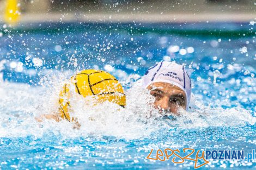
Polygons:
[[[99,103],[109,101],[120,106],[126,105],[126,98],[123,87],[118,80],[111,74],[101,70],[84,70],[70,79],[70,84],[75,85],[75,90],[83,97],[95,96]],[[67,121],[70,119],[69,112],[71,106],[70,98],[70,84],[66,83],[59,93],[59,114],[60,117]]]

